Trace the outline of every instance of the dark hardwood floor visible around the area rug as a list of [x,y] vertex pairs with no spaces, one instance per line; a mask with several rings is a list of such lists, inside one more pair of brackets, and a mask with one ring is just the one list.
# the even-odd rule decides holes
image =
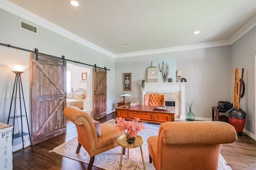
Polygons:
[[[106,117],[98,119],[100,123],[114,119],[115,113],[108,114]],[[67,121],[67,132],[39,143],[31,147],[13,153],[13,169],[14,170],[82,170],[87,169],[88,164],[72,160],[49,152],[58,145],[76,137],[75,125]],[[232,144],[222,145],[220,153],[225,158],[228,166],[232,170],[256,170],[256,141],[243,133],[238,136],[238,141]],[[92,167],[93,170],[101,170],[101,168]]]

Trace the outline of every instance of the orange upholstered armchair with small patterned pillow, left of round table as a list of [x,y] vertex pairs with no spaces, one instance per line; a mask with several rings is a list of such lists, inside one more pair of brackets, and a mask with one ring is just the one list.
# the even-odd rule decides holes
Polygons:
[[96,154],[118,147],[117,139],[121,135],[124,135],[124,133],[119,131],[114,125],[102,123],[100,124],[101,135],[98,136],[99,132],[97,132],[95,122],[92,118],[88,113],[74,106],[66,107],[64,109],[64,115],[76,125],[78,134],[76,154],[80,152],[82,145],[91,157],[87,168],[88,170],[92,169]]

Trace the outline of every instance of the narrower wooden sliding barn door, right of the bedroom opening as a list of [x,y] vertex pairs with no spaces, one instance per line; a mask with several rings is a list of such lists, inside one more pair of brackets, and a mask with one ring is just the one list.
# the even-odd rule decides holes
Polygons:
[[101,68],[93,69],[93,118],[99,119],[107,115],[107,73]]

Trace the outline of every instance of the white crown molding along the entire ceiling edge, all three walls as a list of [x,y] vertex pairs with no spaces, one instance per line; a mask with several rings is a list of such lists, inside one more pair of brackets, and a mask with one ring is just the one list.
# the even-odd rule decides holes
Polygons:
[[16,4],[13,4],[12,2],[9,2],[8,0],[0,0],[0,8],[113,58],[134,57],[134,56],[142,56],[142,55],[169,53],[174,51],[185,51],[185,50],[192,50],[192,49],[202,49],[202,48],[209,48],[209,47],[231,45],[234,42],[236,42],[240,37],[242,37],[244,34],[246,34],[248,31],[250,31],[253,27],[256,26],[256,15],[255,15],[243,27],[241,27],[234,35],[232,35],[230,39],[226,39],[222,41],[213,41],[208,43],[198,43],[198,44],[192,44],[192,45],[168,47],[168,48],[162,48],[162,49],[114,54],[110,51],[107,51],[106,49],[103,49],[102,47],[99,47],[98,45],[95,45],[85,39],[82,39],[81,37],[67,31],[66,29],[63,29],[62,27],[59,27],[58,25],[51,23],[50,21],[47,21],[33,14],[32,12],[29,12],[28,10],[25,10],[24,8],[21,8],[20,6],[17,6]]

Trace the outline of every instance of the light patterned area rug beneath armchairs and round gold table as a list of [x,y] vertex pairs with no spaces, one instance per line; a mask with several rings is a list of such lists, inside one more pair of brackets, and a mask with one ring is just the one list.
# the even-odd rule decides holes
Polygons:
[[[108,123],[114,124],[115,120],[112,119],[108,121]],[[148,155],[148,144],[147,139],[150,136],[158,135],[158,130],[160,125],[154,125],[149,123],[144,123],[145,129],[138,134],[140,135],[144,143],[142,144],[142,152],[144,157],[144,162],[146,166],[146,170],[155,170],[153,163],[149,163],[149,155]],[[80,153],[76,154],[76,148],[78,146],[77,137],[63,143],[62,145],[50,150],[49,152],[56,152],[62,156],[65,156],[70,159],[78,160],[88,164],[90,162],[90,156],[86,152],[86,150],[81,147]],[[120,157],[121,157],[121,147],[116,147],[114,149],[110,149],[106,152],[98,154],[95,156],[93,166],[105,169],[105,170],[117,170],[119,169]],[[127,158],[127,149],[126,154],[123,155],[122,159],[122,170],[141,170],[143,169],[142,158],[140,154],[140,147],[130,149],[129,150],[129,159]],[[226,161],[219,155],[218,160],[218,170],[231,170],[229,166],[226,165]]]

